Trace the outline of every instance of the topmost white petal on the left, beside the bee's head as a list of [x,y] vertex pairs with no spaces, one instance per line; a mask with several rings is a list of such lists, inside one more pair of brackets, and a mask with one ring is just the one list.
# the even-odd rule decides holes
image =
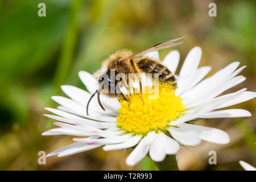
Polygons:
[[90,93],[94,93],[95,90],[98,89],[98,82],[92,74],[85,72],[85,71],[80,71],[79,77],[80,77],[81,81],[84,83],[84,85],[86,86],[86,89]]

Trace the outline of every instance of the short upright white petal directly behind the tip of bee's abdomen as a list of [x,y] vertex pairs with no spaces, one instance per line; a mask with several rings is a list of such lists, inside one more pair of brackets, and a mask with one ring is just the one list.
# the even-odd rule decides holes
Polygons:
[[170,69],[172,73],[175,74],[177,66],[179,65],[179,61],[180,61],[180,53],[179,51],[174,50],[169,52],[166,55],[166,57],[164,57],[163,65],[166,65],[166,67]]

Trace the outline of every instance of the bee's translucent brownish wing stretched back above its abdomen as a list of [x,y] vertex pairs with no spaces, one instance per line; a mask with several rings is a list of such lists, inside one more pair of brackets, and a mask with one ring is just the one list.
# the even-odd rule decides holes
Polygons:
[[184,36],[181,37],[181,38],[177,38],[177,39],[167,40],[166,42],[162,42],[162,43],[156,44],[155,46],[148,47],[146,49],[143,49],[142,51],[139,51],[137,53],[134,53],[131,56],[126,57],[125,59],[123,59],[123,61],[133,59],[134,57],[140,57],[140,56],[142,56],[142,55],[144,55],[148,52],[158,51],[160,49],[165,49],[165,48],[168,48],[168,47],[179,46],[183,42],[176,42],[176,41],[180,40],[180,39],[183,39],[183,38],[184,38]]

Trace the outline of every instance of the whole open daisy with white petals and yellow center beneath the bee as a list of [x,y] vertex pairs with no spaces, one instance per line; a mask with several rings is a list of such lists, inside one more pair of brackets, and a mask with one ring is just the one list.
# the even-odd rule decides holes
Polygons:
[[[161,162],[166,155],[176,154],[180,144],[196,146],[201,140],[229,143],[229,135],[225,131],[193,125],[190,121],[250,117],[251,113],[247,110],[222,108],[250,100],[256,93],[244,88],[219,96],[225,90],[245,81],[245,77],[237,76],[245,66],[238,68],[240,63],[234,62],[203,80],[211,67],[199,68],[201,54],[200,47],[194,47],[188,53],[179,75],[176,75],[177,89],[159,86],[158,98],[148,100],[144,97],[144,105],[138,94],[132,94],[129,106],[127,101],[119,102],[117,98],[101,95],[106,111],[98,105],[97,98],[93,98],[89,115],[86,115],[86,104],[97,90],[98,84],[93,75],[80,71],[79,77],[88,92],[71,85],[61,86],[69,98],[53,96],[52,99],[60,106],[57,109],[46,108],[56,115],[45,114],[46,117],[60,121],[54,122],[59,127],[43,133],[80,138],[74,138],[75,143],[59,148],[47,156],[67,156],[102,146],[105,151],[133,147],[134,150],[126,159],[126,164],[133,166],[147,154],[155,162]],[[159,60],[157,51],[145,56]],[[179,59],[179,52],[171,51],[162,63],[175,74]],[[104,71],[104,68],[101,70]],[[148,86],[144,81],[143,84]]]

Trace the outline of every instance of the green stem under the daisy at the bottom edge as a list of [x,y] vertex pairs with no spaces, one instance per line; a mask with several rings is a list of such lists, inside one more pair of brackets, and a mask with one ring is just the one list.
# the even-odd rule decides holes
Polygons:
[[167,155],[162,162],[155,162],[160,171],[179,171],[176,155]]

